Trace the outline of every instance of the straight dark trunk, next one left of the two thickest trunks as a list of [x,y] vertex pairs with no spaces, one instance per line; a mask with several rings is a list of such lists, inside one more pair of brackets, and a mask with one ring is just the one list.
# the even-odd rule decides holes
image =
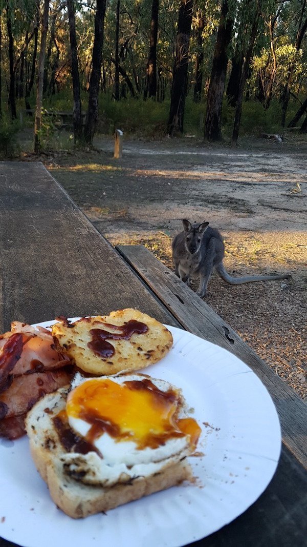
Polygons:
[[144,100],[157,95],[157,40],[158,40],[159,0],[152,0],[150,24],[150,48],[146,66],[146,85]]

